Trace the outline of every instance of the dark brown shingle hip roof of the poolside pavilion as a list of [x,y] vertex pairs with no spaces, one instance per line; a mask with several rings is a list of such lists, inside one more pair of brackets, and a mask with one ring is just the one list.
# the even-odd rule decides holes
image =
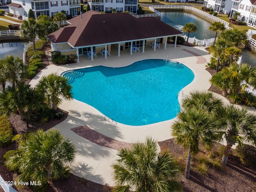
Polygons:
[[100,14],[90,10],[82,14],[82,20],[77,16],[69,22],[48,38],[78,47],[182,34],[157,18],[135,18],[128,13]]

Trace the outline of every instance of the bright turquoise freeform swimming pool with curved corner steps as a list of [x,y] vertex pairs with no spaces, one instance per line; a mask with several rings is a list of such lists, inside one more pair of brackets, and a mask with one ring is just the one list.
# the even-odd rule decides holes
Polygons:
[[174,118],[180,112],[177,93],[194,79],[183,64],[165,60],[142,60],[122,68],[82,68],[63,76],[72,84],[74,99],[132,126]]

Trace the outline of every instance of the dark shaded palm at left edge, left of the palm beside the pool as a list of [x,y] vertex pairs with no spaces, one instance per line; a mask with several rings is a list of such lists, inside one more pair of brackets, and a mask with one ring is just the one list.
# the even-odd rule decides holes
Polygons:
[[22,120],[26,119],[28,126],[32,110],[40,106],[40,100],[42,97],[34,88],[24,82],[18,82],[17,87],[8,86],[0,94],[0,114],[10,117],[18,112]]

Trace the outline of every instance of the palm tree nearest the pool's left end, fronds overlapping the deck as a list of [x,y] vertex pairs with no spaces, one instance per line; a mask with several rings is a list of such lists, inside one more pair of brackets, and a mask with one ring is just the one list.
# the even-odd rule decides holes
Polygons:
[[62,102],[60,96],[64,99],[71,100],[72,86],[68,83],[67,78],[52,73],[48,76],[43,76],[36,85],[39,94],[45,96],[46,101],[50,104],[51,108],[57,108]]

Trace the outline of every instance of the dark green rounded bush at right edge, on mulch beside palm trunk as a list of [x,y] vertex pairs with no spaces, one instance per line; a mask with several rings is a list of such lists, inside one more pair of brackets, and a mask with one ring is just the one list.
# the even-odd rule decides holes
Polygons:
[[236,148],[237,156],[242,164],[249,167],[256,167],[256,148],[254,146],[244,144]]

